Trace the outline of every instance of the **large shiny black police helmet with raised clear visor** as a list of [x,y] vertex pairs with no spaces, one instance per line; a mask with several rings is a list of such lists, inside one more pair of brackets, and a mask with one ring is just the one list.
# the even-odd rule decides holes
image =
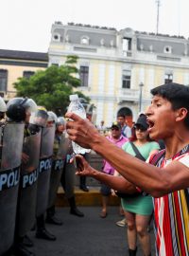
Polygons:
[[37,104],[32,99],[13,98],[7,103],[6,115],[13,121],[24,121],[26,119],[26,111],[35,112]]

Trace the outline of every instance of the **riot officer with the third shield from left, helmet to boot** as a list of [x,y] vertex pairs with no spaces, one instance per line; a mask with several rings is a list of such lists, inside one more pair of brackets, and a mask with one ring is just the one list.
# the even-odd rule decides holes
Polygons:
[[[53,151],[53,144],[50,145],[48,141],[54,140],[54,130],[53,137],[50,129],[53,127],[46,127],[48,119],[48,113],[44,107],[38,107],[38,110],[34,115],[31,116],[31,121],[29,125],[29,130],[31,133],[35,133],[39,129],[42,129],[42,143],[41,143],[41,156],[40,156],[40,166],[43,166],[43,162],[46,160],[46,156],[52,157],[52,155],[48,155],[49,150]],[[49,133],[50,132],[50,133]],[[48,137],[48,135],[50,137]],[[52,141],[53,141],[52,140]],[[52,147],[52,149],[49,149]],[[51,159],[47,159],[50,160]],[[45,160],[44,160],[45,159]],[[45,172],[41,172],[41,168],[39,168],[39,177],[38,177],[38,198],[37,198],[37,212],[36,212],[36,238],[41,238],[49,241],[55,241],[56,236],[51,234],[45,228],[45,220],[44,214],[47,208],[48,201],[48,191],[49,191],[49,180],[50,180],[51,166],[49,170],[45,170]],[[44,192],[46,191],[46,192]],[[45,205],[46,202],[46,205]]]

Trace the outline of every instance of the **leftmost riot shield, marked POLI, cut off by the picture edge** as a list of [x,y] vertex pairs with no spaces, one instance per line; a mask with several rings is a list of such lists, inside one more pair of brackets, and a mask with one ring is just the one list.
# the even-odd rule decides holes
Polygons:
[[3,129],[0,155],[0,255],[5,254],[14,241],[24,128],[23,123],[8,123]]

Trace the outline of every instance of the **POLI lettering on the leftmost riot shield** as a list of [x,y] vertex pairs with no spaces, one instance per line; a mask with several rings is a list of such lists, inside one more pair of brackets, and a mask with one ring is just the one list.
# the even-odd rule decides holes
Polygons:
[[18,185],[20,178],[20,166],[0,173],[0,192]]

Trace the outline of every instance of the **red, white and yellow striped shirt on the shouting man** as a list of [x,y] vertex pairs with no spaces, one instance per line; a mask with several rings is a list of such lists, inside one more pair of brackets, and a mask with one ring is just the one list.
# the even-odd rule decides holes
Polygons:
[[[189,167],[189,146],[172,159],[165,160],[163,155],[157,166],[163,169],[173,160]],[[189,255],[189,188],[154,198],[153,202],[157,255]]]

